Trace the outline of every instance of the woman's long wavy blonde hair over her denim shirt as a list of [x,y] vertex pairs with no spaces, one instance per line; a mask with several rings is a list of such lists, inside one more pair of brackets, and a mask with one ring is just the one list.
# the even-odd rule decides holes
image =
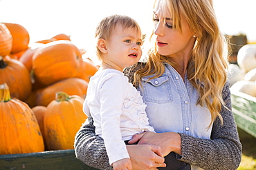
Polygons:
[[[210,125],[217,116],[223,122],[219,112],[222,106],[226,107],[221,92],[227,79],[228,43],[219,30],[212,1],[161,0],[160,6],[170,12],[174,29],[182,31],[181,16],[183,16],[190,29],[196,32],[196,43],[188,63],[188,79],[200,94],[197,104],[205,105],[210,110],[212,117]],[[164,63],[169,63],[174,68],[179,67],[167,56],[158,54],[155,47],[149,54],[146,67],[136,72],[134,80],[140,82],[143,76],[152,75],[152,78],[161,76],[165,71]]]

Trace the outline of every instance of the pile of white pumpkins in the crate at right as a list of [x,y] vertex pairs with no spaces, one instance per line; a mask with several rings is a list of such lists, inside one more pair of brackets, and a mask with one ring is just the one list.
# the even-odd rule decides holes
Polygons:
[[237,65],[229,65],[230,91],[256,97],[256,44],[246,44],[237,54]]

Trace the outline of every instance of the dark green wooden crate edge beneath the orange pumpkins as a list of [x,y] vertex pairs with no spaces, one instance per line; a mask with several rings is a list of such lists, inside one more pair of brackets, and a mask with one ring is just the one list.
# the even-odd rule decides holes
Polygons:
[[1,170],[97,170],[75,158],[74,149],[0,155]]

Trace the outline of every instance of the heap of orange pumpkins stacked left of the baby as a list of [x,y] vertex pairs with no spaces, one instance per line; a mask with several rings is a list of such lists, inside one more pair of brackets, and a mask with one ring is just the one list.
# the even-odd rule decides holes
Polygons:
[[98,66],[70,36],[30,43],[18,23],[0,23],[0,154],[73,149],[82,103]]

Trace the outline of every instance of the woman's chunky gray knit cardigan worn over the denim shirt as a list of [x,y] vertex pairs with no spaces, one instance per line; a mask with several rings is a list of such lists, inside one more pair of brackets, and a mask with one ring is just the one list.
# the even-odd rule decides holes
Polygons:
[[[138,64],[135,69],[126,69],[125,75],[133,81],[134,72],[144,64]],[[221,108],[221,120],[214,120],[210,139],[195,138],[181,135],[180,160],[201,167],[202,169],[237,169],[241,162],[241,142],[237,133],[230,99],[230,84],[223,87],[223,100],[226,107]],[[75,155],[85,164],[97,169],[113,169],[109,166],[107,151],[102,138],[95,135],[93,119],[89,117],[75,136]]]

